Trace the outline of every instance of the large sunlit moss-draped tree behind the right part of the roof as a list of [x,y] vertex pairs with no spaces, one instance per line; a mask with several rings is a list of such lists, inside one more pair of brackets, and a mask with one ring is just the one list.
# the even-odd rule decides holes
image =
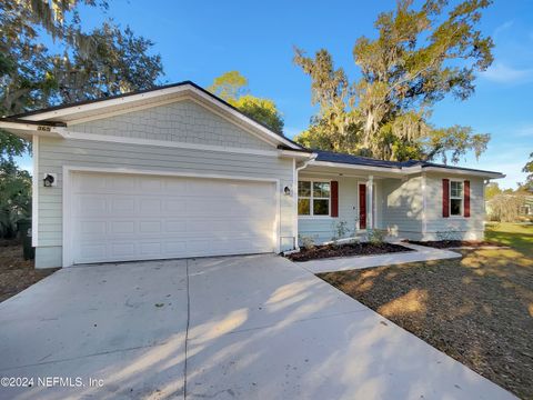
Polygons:
[[426,0],[420,9],[400,0],[378,17],[376,39],[362,37],[353,49],[361,78],[350,83],[328,50],[314,58],[296,49],[294,62],[311,77],[312,102],[320,111],[296,140],[326,149],[389,160],[452,162],[486,149],[489,134],[470,127],[436,128],[432,107],[453,94],[474,92],[475,72],[493,60],[492,40],[476,29],[489,0]]

